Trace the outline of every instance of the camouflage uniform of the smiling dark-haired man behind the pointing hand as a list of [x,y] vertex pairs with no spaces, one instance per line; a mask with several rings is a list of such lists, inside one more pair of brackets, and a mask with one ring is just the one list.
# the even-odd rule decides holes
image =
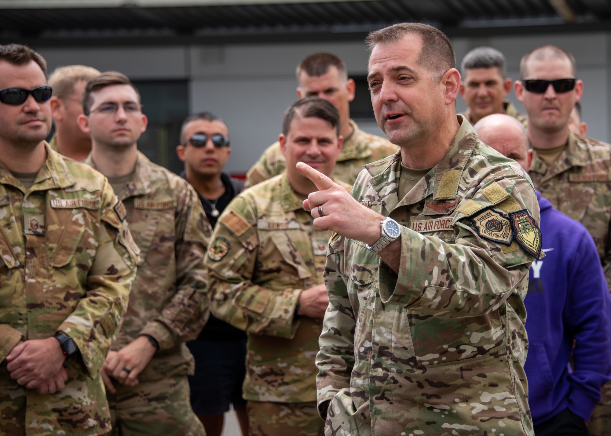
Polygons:
[[[323,283],[331,231],[313,227],[303,200],[286,173],[242,192],[219,217],[205,263],[214,316],[249,333],[244,399],[316,410],[322,320],[295,316],[295,308],[303,289]],[[256,415],[251,434],[277,424]],[[299,434],[321,433],[323,421],[310,416]]]

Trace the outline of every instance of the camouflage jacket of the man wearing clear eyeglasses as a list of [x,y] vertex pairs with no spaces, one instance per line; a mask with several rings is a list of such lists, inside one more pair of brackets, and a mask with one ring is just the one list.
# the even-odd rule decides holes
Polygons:
[[[85,162],[95,168],[91,155]],[[210,313],[203,265],[211,234],[208,219],[186,180],[140,152],[134,179],[119,195],[141,260],[112,350],[151,335],[159,351],[139,380],[192,374],[194,359],[185,342],[197,338]]]

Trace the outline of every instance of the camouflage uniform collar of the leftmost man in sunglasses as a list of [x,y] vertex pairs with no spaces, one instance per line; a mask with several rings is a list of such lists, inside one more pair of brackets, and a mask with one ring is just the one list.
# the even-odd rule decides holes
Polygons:
[[[46,151],[46,160],[34,179],[30,191],[47,191],[48,189],[65,189],[76,184],[76,179],[68,169],[64,158],[51,150],[48,142],[43,141]],[[13,173],[4,165],[0,164],[0,184],[15,186],[23,192],[24,186],[18,181]]]

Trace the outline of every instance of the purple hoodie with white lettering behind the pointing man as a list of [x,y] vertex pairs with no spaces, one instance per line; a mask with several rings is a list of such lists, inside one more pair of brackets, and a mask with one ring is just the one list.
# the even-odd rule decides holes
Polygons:
[[535,425],[567,407],[588,421],[611,379],[609,288],[586,228],[536,194],[545,257],[530,267],[524,300],[530,412]]

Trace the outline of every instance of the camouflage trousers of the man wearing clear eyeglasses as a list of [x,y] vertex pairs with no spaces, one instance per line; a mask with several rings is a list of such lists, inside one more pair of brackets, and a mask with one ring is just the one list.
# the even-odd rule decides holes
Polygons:
[[108,392],[114,436],[205,436],[193,409],[185,374],[140,382],[134,387],[115,384]]

